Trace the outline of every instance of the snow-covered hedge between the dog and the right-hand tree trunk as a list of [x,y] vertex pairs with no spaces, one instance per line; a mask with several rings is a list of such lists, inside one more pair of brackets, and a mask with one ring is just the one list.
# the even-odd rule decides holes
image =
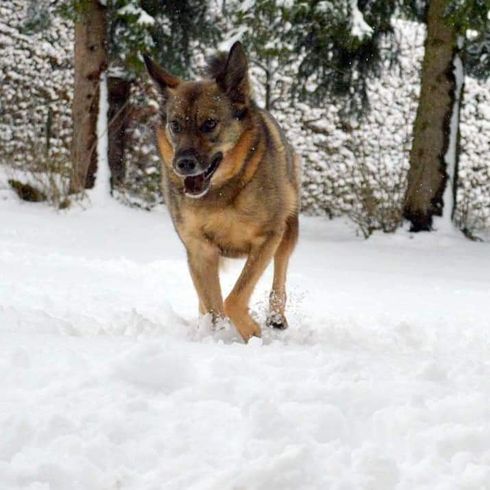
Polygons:
[[284,101],[274,114],[303,161],[307,214],[349,216],[363,235],[400,224],[419,90],[424,29],[397,22],[398,66],[369,83],[370,111],[346,119],[341,108]]

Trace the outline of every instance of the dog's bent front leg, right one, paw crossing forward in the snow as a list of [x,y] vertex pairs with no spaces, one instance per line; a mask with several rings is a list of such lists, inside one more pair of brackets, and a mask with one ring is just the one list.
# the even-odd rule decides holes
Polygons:
[[225,313],[237,328],[243,340],[260,337],[260,327],[248,312],[248,302],[255,285],[271,261],[281,240],[282,233],[271,233],[252,246],[245,266],[225,301]]

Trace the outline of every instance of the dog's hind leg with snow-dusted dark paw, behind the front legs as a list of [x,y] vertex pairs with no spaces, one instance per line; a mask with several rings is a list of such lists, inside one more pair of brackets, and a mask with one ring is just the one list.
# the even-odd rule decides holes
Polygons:
[[298,240],[298,216],[290,217],[286,224],[286,231],[274,255],[274,279],[269,297],[269,327],[285,329],[288,322],[284,315],[286,307],[286,275],[288,262]]

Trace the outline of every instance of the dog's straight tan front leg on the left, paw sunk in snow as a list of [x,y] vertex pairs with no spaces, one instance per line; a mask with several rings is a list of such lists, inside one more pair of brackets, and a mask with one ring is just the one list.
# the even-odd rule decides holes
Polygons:
[[187,261],[199,297],[199,312],[210,313],[215,323],[224,317],[223,298],[219,283],[219,252],[204,240],[186,243]]

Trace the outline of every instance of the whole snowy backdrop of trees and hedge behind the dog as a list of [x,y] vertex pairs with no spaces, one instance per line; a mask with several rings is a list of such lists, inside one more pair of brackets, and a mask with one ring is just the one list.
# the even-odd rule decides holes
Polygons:
[[302,157],[304,213],[347,216],[365,237],[405,222],[485,237],[488,12],[488,0],[3,2],[0,166],[22,198],[64,208],[108,163],[112,196],[153,208],[158,94],[141,53],[189,79],[241,40],[259,105]]

